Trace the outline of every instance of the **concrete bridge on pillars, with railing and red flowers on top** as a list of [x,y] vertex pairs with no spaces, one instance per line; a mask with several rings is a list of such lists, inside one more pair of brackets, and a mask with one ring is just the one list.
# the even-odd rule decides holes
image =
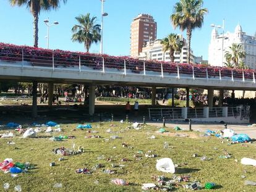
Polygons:
[[[186,88],[187,107],[189,89],[208,90],[208,107],[213,107],[213,90],[256,91],[254,70],[233,70],[189,64],[171,64],[139,61],[128,57],[109,57],[69,51],[35,49],[0,43],[0,80],[48,83],[49,106],[53,101],[54,83],[87,84],[89,88],[89,113],[94,114],[95,86],[122,85],[152,88],[155,104],[157,87]],[[234,96],[234,95],[233,95]],[[36,94],[33,94],[33,115],[36,116]]]

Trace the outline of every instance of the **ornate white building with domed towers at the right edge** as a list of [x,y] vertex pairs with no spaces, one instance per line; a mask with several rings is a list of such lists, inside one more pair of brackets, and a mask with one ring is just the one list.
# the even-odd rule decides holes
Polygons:
[[242,31],[242,27],[237,25],[234,33],[224,33],[224,44],[223,49],[224,53],[222,54],[222,43],[223,43],[223,35],[218,35],[218,31],[216,28],[211,32],[211,43],[208,49],[208,61],[210,65],[222,66],[221,60],[223,55],[223,63],[226,62],[224,58],[224,54],[229,50],[229,46],[233,43],[242,44],[244,51],[246,52],[246,57],[244,59],[245,65],[250,67],[251,69],[255,69],[256,64],[256,37],[246,35],[245,32]]

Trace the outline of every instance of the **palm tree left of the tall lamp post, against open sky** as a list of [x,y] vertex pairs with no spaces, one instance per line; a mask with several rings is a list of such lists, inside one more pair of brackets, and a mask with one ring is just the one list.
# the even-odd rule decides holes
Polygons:
[[96,17],[90,18],[90,14],[75,17],[79,25],[72,27],[72,40],[85,44],[85,49],[89,52],[92,43],[100,41],[101,26],[96,24]]

